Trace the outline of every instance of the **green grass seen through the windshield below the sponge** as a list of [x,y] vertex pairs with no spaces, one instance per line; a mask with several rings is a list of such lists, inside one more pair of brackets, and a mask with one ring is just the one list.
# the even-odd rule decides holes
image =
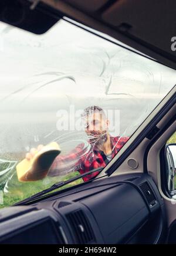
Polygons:
[[[9,192],[3,193],[3,204],[0,204],[0,208],[4,208],[6,206],[11,206],[15,204],[16,202],[22,201],[25,198],[29,198],[29,196],[34,195],[35,193],[38,193],[40,191],[43,191],[43,189],[49,188],[54,183],[59,182],[60,180],[68,180],[75,176],[79,175],[79,172],[72,172],[69,173],[66,176],[57,176],[57,177],[46,177],[43,180],[38,180],[35,182],[18,182],[18,178],[16,176],[16,173],[13,177],[13,180],[11,181],[9,185]],[[70,184],[67,184],[63,186],[60,189],[57,189],[57,191],[61,189],[68,188],[73,185],[77,185],[79,183],[82,183],[83,180],[79,179],[75,182],[72,182]]]

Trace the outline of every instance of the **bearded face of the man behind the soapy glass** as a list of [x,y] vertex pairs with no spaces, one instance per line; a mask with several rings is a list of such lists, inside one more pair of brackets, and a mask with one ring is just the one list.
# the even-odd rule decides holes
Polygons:
[[85,132],[90,142],[102,142],[107,139],[109,121],[104,114],[94,112],[88,114],[84,119]]

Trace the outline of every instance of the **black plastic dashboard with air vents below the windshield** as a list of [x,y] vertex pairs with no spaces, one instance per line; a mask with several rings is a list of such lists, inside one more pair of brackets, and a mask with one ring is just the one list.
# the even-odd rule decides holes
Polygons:
[[163,199],[147,174],[84,183],[0,211],[1,244],[157,244]]

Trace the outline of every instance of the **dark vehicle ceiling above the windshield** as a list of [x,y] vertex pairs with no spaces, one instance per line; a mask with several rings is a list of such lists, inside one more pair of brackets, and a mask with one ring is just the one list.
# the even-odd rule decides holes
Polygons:
[[[0,4],[1,21],[36,32],[36,34],[42,34],[59,19],[56,18],[57,10],[61,17],[72,18],[88,27],[108,34],[176,69],[176,47],[175,51],[171,50],[171,38],[176,37],[175,0],[4,0],[2,2],[9,2],[10,5],[12,2],[22,4],[28,2],[29,8],[31,6],[30,12],[33,14],[30,17],[24,15],[23,19],[31,19],[33,27],[28,29],[30,22],[28,22],[27,27],[23,27],[20,24],[12,24],[7,19],[4,20]],[[46,5],[50,5],[52,8],[47,9]],[[35,18],[35,12],[38,8],[39,12],[44,9],[45,15],[55,15],[53,19],[42,19],[40,27],[43,29],[40,31],[35,29],[36,25],[39,24],[40,15],[36,14],[38,19]]]

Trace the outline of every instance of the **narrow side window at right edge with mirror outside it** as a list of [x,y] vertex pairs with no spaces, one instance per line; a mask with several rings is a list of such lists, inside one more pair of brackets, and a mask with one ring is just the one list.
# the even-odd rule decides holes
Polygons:
[[171,192],[176,189],[176,132],[165,145],[165,161],[168,191]]

